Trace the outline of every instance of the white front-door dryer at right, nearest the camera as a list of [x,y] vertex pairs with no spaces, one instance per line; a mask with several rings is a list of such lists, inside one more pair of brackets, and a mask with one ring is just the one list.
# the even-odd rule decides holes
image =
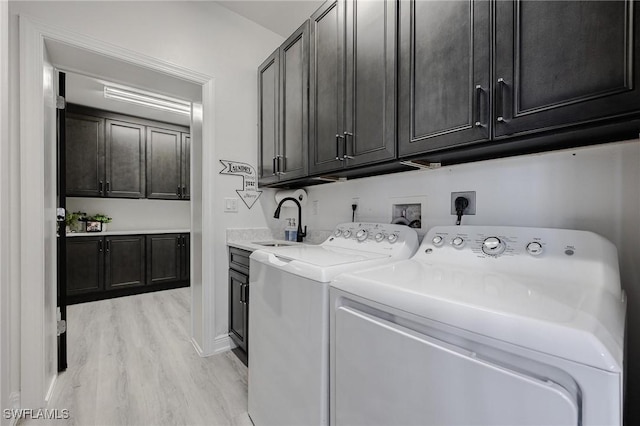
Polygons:
[[621,425],[626,301],[591,232],[435,227],[331,283],[332,425]]

